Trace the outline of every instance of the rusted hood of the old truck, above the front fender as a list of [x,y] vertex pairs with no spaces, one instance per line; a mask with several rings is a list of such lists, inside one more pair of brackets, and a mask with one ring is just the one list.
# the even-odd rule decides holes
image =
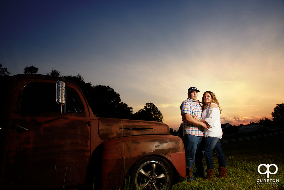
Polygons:
[[170,134],[167,124],[156,121],[99,118],[98,128],[102,140],[134,135]]

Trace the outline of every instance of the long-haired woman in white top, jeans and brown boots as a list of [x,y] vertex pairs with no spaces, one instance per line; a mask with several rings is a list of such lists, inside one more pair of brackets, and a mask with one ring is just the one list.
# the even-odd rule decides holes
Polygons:
[[[221,128],[220,120],[220,106],[219,102],[215,97],[215,94],[211,91],[206,91],[202,97],[202,118],[201,122],[207,123],[212,128],[204,128],[203,136],[205,138],[204,142],[204,157],[207,164],[207,179],[214,177],[214,163],[212,151],[217,155],[219,163],[219,176],[227,177],[226,175],[226,159],[221,148],[220,140],[222,138],[223,132]],[[192,116],[194,119],[199,120],[197,116]]]

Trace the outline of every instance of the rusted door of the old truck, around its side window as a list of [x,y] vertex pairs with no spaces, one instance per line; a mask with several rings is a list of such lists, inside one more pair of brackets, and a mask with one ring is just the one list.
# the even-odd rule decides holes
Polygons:
[[[7,130],[5,184],[9,188],[20,189],[57,187],[57,183],[60,187],[67,176],[71,179],[68,185],[77,185],[85,180],[90,158],[89,113],[66,113],[61,118],[59,113],[30,114],[22,111],[23,87],[34,81],[54,83],[42,79],[15,83],[10,127]],[[29,131],[15,129],[14,125]]]

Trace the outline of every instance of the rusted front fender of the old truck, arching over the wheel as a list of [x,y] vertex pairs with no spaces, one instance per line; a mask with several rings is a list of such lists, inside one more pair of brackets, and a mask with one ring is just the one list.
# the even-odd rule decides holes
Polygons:
[[[171,153],[180,154],[178,156]],[[95,178],[103,181],[102,189],[121,187],[126,173],[130,172],[130,167],[133,168],[135,162],[146,156],[156,155],[168,160],[173,166],[178,166],[181,170],[178,172],[182,177],[185,176],[184,146],[181,138],[177,136],[142,135],[112,139],[101,143],[93,154],[92,163],[105,166],[94,166],[94,171],[99,171],[95,173],[98,174]],[[174,161],[176,158],[178,160]]]

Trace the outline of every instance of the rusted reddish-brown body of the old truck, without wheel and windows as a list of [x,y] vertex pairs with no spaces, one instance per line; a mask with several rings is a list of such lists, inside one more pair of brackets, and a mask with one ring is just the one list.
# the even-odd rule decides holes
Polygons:
[[[169,135],[166,124],[97,118],[80,88],[68,80],[66,87],[78,94],[82,112],[63,113],[63,117],[60,112],[29,113],[20,109],[26,84],[55,84],[58,78],[16,75],[10,79],[7,109],[0,116],[0,189],[73,188],[84,183],[93,188],[94,180],[95,189],[119,189],[130,168],[153,155],[167,160],[184,177],[183,142]],[[41,106],[42,101],[35,103]]]

